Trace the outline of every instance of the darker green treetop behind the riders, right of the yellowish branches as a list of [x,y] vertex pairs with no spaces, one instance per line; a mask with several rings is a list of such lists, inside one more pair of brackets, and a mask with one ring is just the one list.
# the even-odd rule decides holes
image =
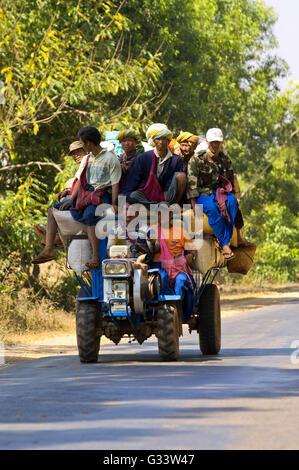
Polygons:
[[136,52],[161,44],[160,87],[169,93],[157,118],[176,132],[221,127],[235,167],[252,175],[285,138],[288,100],[277,92],[286,64],[272,54],[272,9],[248,0],[133,0],[124,11],[136,20]]

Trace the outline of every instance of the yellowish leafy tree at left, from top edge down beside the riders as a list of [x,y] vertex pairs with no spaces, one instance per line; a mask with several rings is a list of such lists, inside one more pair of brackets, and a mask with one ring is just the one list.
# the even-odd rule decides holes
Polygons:
[[33,224],[72,168],[64,157],[78,129],[129,125],[159,99],[159,53],[124,49],[123,3],[0,2],[1,256],[22,266],[37,248]]

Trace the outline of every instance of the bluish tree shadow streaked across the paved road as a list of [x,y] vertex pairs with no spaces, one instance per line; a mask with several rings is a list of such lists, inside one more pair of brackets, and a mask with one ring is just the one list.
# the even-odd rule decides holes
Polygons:
[[[202,356],[187,347],[175,363],[161,362],[156,351],[155,342],[134,354],[127,344],[106,345],[96,364],[69,355],[2,369],[0,448],[130,448],[140,440],[159,442],[159,436],[163,447],[163,436],[170,443],[178,426],[191,435],[207,417],[225,423],[234,413],[256,411],[256,399],[298,397],[298,368],[267,362],[270,356],[288,361],[288,348]],[[255,400],[244,406],[234,401],[244,398]]]

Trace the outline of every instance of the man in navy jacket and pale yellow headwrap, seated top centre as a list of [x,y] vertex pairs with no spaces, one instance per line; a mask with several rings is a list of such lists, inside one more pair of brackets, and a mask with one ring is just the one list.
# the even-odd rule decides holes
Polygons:
[[171,136],[165,124],[152,124],[148,128],[146,138],[153,150],[137,158],[134,172],[122,190],[130,203],[180,202],[187,178],[182,158],[169,150]]

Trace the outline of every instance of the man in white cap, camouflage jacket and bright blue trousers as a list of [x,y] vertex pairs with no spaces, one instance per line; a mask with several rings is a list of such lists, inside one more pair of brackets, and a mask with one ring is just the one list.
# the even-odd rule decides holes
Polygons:
[[187,197],[195,204],[203,205],[224,257],[234,258],[229,242],[234,228],[239,204],[232,193],[234,172],[231,160],[221,151],[221,129],[209,129],[206,135],[208,149],[194,155],[188,166]]

